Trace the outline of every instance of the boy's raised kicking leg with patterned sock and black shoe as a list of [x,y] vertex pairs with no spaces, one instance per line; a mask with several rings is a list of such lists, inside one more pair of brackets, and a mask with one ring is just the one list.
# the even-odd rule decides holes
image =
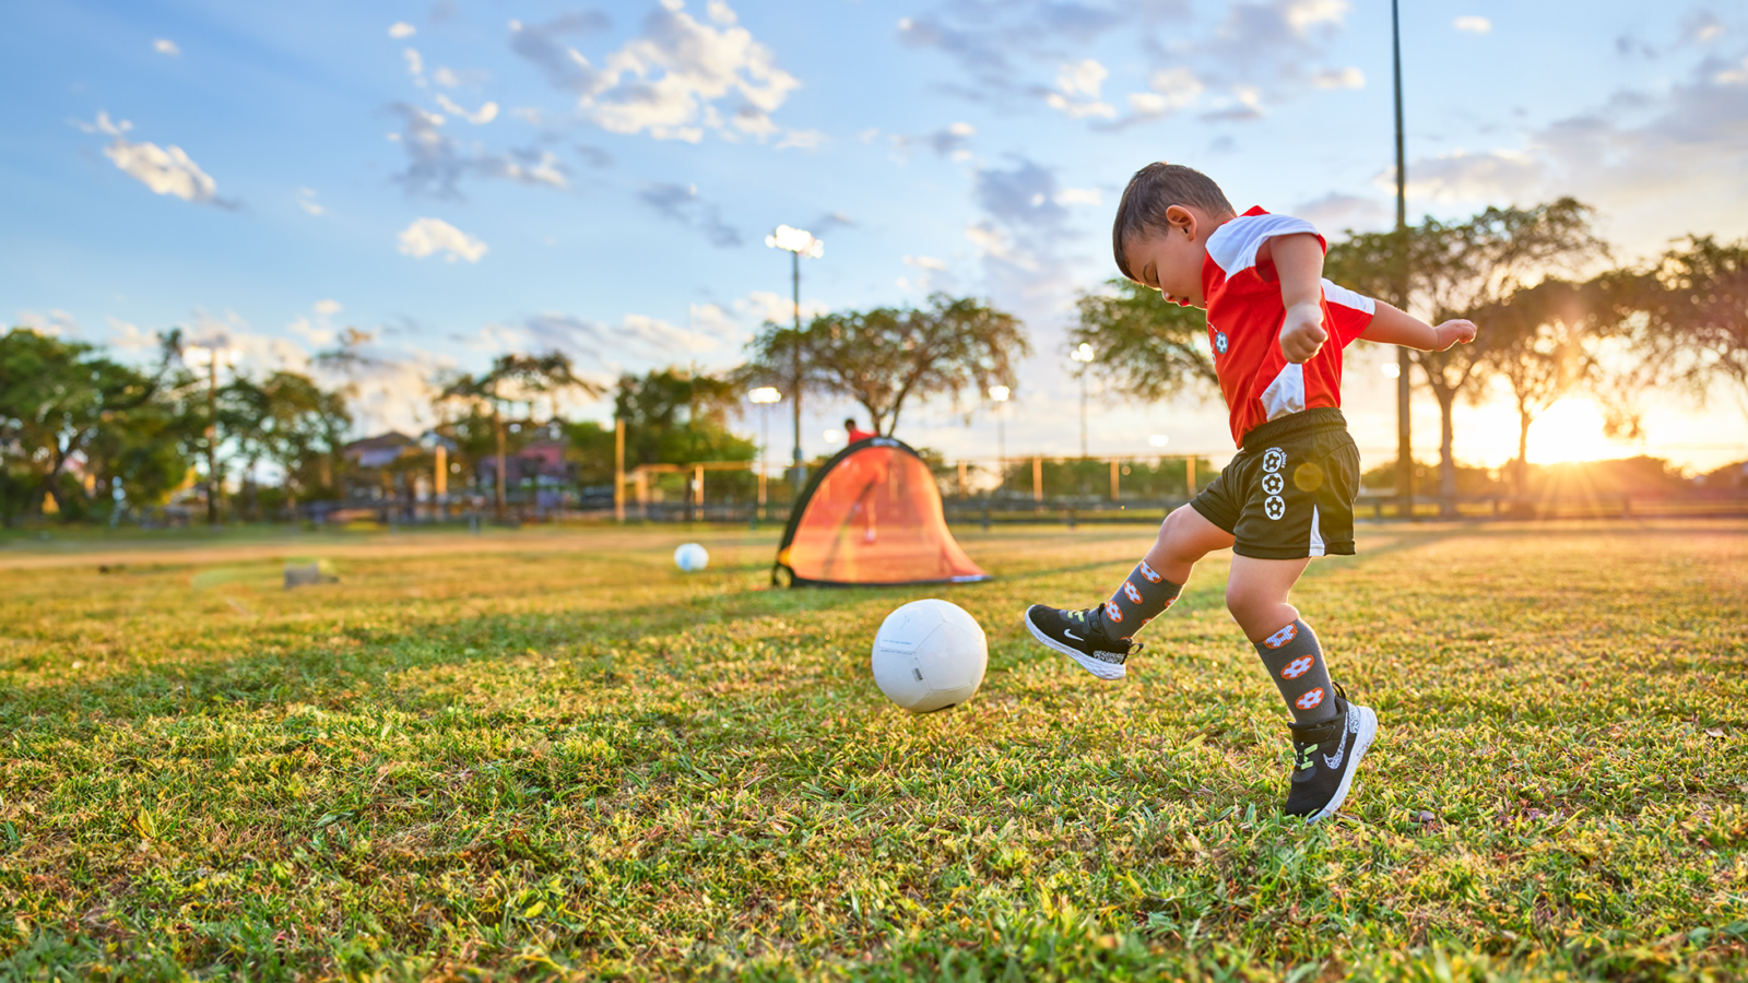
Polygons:
[[1110,600],[1084,610],[1035,603],[1026,609],[1026,630],[1092,675],[1122,679],[1129,652],[1138,645],[1134,633],[1171,607],[1197,560],[1229,546],[1232,533],[1183,505],[1166,516],[1154,547]]

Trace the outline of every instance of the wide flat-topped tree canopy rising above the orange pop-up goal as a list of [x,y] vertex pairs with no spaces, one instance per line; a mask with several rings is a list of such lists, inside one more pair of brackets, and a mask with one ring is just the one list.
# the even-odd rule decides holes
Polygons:
[[[790,367],[801,346],[801,378]],[[1019,318],[972,297],[935,294],[925,308],[874,308],[813,318],[801,334],[774,324],[748,345],[745,383],[787,383],[858,402],[876,432],[891,436],[911,399],[1014,381],[1014,364],[1031,353]]]

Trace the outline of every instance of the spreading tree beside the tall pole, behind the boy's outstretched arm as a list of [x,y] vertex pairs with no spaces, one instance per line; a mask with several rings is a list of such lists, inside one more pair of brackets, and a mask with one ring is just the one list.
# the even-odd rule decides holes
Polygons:
[[[1432,324],[1470,318],[1503,303],[1517,290],[1557,273],[1578,273],[1608,248],[1591,224],[1594,210],[1571,198],[1535,208],[1488,208],[1456,224],[1426,217],[1409,229],[1409,310]],[[1362,233],[1328,250],[1325,275],[1342,287],[1388,297],[1391,271],[1400,262],[1395,233]],[[1484,315],[1482,315],[1484,317]],[[1444,352],[1414,352],[1414,362],[1439,401],[1439,495],[1446,514],[1456,509],[1456,460],[1451,451],[1451,415],[1458,397],[1475,399],[1484,362],[1488,325],[1474,345]]]

